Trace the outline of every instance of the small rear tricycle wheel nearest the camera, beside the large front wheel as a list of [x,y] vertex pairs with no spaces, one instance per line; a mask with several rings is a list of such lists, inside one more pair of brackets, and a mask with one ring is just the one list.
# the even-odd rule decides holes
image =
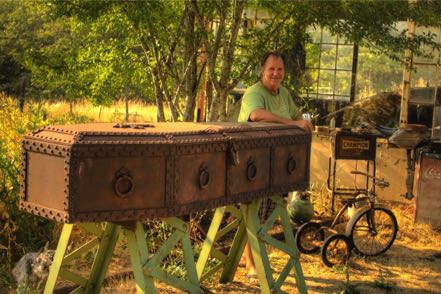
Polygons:
[[346,264],[351,254],[349,239],[343,234],[334,234],[323,243],[320,258],[328,267]]

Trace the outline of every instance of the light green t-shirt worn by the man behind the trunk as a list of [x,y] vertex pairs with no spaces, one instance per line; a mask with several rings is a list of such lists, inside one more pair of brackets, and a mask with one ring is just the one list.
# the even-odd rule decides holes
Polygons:
[[297,119],[300,115],[287,88],[280,86],[279,94],[274,95],[261,82],[257,82],[242,97],[238,121],[247,122],[251,112],[261,108],[288,119]]

